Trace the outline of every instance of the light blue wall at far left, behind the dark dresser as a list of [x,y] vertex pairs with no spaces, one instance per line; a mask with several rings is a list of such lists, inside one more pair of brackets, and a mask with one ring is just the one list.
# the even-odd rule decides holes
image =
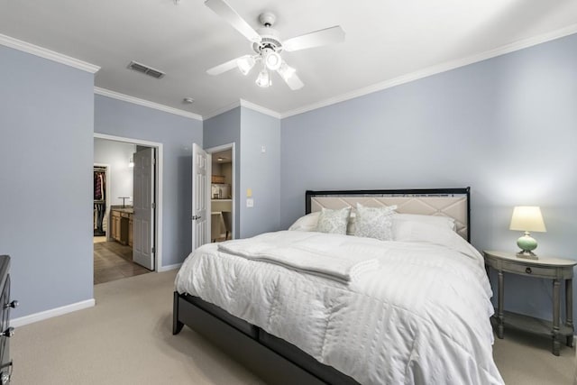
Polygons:
[[13,317],[93,298],[94,75],[0,46],[0,254]]

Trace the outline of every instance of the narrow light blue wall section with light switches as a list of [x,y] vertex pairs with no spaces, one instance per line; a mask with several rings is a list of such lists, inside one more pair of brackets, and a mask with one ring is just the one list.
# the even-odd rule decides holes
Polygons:
[[[241,142],[241,237],[246,238],[279,230],[279,119],[242,107]],[[247,188],[252,189],[252,207],[246,206]]]

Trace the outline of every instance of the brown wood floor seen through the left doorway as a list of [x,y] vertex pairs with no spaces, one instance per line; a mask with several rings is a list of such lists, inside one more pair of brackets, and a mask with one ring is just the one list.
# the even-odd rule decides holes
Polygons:
[[133,249],[130,246],[114,241],[94,243],[95,285],[150,271],[133,262]]

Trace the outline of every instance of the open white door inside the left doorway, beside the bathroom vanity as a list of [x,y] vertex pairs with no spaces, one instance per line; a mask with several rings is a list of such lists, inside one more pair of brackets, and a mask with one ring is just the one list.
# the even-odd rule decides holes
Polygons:
[[154,270],[154,151],[134,153],[133,261]]

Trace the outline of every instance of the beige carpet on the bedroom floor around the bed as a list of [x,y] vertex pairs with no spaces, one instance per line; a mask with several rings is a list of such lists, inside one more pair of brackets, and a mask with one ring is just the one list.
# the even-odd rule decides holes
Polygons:
[[[95,286],[96,307],[18,327],[14,385],[262,384],[188,327],[172,335],[176,271]],[[572,384],[575,351],[506,330],[494,356],[508,384]]]

